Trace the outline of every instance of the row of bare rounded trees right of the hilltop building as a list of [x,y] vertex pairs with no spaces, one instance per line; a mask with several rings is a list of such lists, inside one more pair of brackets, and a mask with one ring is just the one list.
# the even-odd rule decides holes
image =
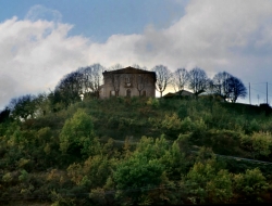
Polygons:
[[158,65],[153,70],[157,74],[157,90],[161,96],[162,92],[170,85],[172,85],[180,94],[185,88],[188,88],[195,95],[207,92],[218,94],[225,101],[231,102],[236,102],[238,98],[245,98],[247,95],[247,89],[242,80],[226,72],[218,73],[210,79],[206,72],[198,67],[189,72],[185,68],[177,68],[174,73],[171,73],[168,67]]

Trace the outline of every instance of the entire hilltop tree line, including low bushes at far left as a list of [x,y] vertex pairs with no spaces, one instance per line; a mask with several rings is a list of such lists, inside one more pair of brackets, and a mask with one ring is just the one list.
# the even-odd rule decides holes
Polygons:
[[[134,64],[133,67],[156,73],[156,90],[160,92],[160,96],[169,87],[173,87],[180,95],[182,95],[183,90],[188,89],[193,91],[195,96],[206,92],[220,95],[224,101],[228,102],[236,102],[238,98],[247,95],[247,89],[243,81],[226,72],[220,72],[213,78],[208,78],[206,72],[199,67],[190,70],[177,68],[174,72],[171,72],[164,65],[157,65],[151,69],[137,64]],[[99,98],[99,91],[103,85],[102,73],[121,68],[123,68],[121,64],[115,64],[109,68],[101,64],[79,67],[64,75],[57,83],[54,90],[50,90],[48,94],[25,94],[13,98],[5,110],[0,113],[0,123],[10,114],[14,117],[26,119],[27,117],[34,117],[37,113],[46,113],[46,111],[57,112],[81,101],[83,95],[84,98]],[[112,73],[110,78],[114,94],[119,95],[121,81],[125,76]],[[132,80],[139,92],[139,96],[143,95],[141,92],[148,81],[147,75],[141,74],[132,78]]]

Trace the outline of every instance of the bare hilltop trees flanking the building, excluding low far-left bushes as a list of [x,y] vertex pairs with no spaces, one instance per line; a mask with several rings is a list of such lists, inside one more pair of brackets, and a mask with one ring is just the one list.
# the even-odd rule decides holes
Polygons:
[[[148,70],[146,67],[133,65],[135,68]],[[107,70],[116,70],[123,68],[122,65],[116,64]],[[64,76],[58,83],[55,91],[62,92],[65,96],[71,96],[71,100],[78,99],[78,93],[85,95],[95,95],[99,98],[99,90],[103,83],[102,73],[106,67],[100,64],[92,64],[91,66],[78,68],[76,72]],[[247,95],[247,89],[243,81],[226,72],[220,72],[213,78],[209,78],[206,72],[199,67],[195,67],[189,72],[186,68],[177,68],[171,72],[164,65],[157,65],[150,69],[156,73],[156,89],[160,92],[160,96],[168,87],[173,87],[175,91],[182,93],[184,89],[194,92],[196,96],[200,93],[207,92],[209,94],[218,94],[225,101],[236,102],[238,98]],[[112,87],[115,95],[119,95],[121,81],[124,76],[122,74],[111,75]],[[145,89],[148,78],[145,75],[133,79],[140,92]]]

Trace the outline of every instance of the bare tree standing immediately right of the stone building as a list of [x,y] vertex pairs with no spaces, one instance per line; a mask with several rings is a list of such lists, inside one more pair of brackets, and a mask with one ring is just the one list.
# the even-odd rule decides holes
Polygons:
[[152,69],[156,73],[156,89],[160,92],[162,96],[162,92],[166,89],[169,83],[171,82],[172,74],[168,69],[166,66],[157,65]]

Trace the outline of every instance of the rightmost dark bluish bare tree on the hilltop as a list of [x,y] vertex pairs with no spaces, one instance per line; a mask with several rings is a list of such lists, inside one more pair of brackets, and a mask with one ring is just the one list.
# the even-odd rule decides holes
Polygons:
[[247,89],[240,79],[236,77],[231,77],[227,79],[230,86],[230,100],[231,102],[236,102],[238,98],[247,96]]

